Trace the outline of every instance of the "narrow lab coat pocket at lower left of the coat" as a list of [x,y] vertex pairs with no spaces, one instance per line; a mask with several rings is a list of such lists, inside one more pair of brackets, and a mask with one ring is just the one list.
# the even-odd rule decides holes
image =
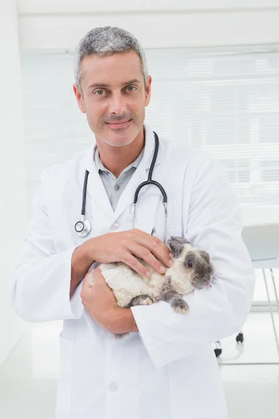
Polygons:
[[70,419],[74,341],[60,334],[60,377],[57,385],[56,419]]

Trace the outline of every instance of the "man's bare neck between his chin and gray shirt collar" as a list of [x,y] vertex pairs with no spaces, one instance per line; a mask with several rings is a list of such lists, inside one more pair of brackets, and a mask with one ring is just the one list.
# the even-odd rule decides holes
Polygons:
[[142,126],[142,129],[140,130],[140,133],[137,134],[135,140],[128,145],[114,147],[97,138],[96,142],[100,153],[100,160],[105,168],[110,170],[117,178],[142,152],[145,142],[144,127]]

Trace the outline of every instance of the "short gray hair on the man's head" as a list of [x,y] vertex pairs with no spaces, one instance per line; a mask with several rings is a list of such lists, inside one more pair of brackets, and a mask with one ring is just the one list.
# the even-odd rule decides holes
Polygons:
[[75,51],[75,84],[82,92],[82,60],[93,55],[110,55],[135,51],[140,57],[144,85],[148,77],[147,62],[142,45],[137,38],[125,29],[100,27],[89,31],[78,43]]

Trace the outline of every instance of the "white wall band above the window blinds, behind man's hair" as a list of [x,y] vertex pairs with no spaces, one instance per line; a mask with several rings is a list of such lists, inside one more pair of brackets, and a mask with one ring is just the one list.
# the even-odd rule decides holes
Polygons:
[[279,0],[18,0],[22,49],[66,48],[93,27],[131,31],[144,47],[279,42]]

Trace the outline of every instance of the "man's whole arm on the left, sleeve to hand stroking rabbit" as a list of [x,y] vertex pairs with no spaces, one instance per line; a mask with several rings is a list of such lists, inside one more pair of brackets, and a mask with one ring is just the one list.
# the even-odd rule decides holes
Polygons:
[[81,288],[80,283],[95,260],[99,263],[123,260],[137,272],[146,274],[146,267],[133,256],[136,253],[158,272],[162,263],[169,266],[169,249],[156,237],[140,230],[108,233],[89,239],[80,247],[56,253],[45,204],[50,185],[51,177],[43,172],[33,199],[23,255],[13,272],[13,307],[25,321],[80,318],[84,306],[80,293],[75,290]]

